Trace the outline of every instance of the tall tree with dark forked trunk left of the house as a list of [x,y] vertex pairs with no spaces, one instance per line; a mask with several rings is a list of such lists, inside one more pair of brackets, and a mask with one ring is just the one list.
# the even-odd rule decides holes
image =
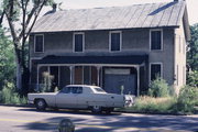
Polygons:
[[25,95],[29,88],[25,56],[28,37],[43,7],[53,3],[53,0],[3,0],[1,14],[6,15],[12,36],[16,62],[16,87],[21,89],[22,95]]

